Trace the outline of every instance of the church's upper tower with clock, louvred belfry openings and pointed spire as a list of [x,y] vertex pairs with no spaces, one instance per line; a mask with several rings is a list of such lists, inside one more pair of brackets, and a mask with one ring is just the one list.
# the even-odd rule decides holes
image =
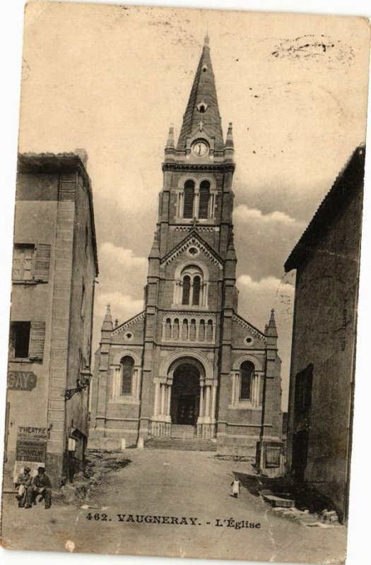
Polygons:
[[223,258],[232,234],[232,124],[223,139],[208,36],[177,143],[170,126],[163,162],[158,239],[166,254],[196,230]]

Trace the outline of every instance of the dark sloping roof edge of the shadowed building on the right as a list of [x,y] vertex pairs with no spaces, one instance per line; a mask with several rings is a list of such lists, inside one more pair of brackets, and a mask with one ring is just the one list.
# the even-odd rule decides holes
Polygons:
[[307,229],[285,262],[285,272],[298,268],[360,189],[365,176],[365,145],[359,145],[336,177]]

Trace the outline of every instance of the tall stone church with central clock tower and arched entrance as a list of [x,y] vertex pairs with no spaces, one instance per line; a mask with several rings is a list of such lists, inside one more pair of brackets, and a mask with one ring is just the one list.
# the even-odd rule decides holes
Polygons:
[[233,155],[206,36],[179,138],[170,127],[165,146],[143,311],[114,327],[107,307],[102,323],[90,448],[265,450],[263,466],[281,465],[274,311],[264,331],[237,312]]

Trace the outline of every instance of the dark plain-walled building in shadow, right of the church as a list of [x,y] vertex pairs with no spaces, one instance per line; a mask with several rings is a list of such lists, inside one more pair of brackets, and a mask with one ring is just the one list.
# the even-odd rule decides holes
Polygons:
[[288,472],[348,514],[365,147],[358,147],[285,263],[296,269]]

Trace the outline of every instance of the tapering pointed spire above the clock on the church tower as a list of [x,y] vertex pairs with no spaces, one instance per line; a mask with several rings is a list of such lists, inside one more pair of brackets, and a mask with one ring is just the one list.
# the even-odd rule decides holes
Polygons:
[[204,48],[202,49],[199,66],[196,70],[194,83],[187,104],[187,109],[183,116],[182,129],[180,131],[177,150],[184,150],[187,145],[187,137],[200,127],[208,136],[215,138],[215,150],[223,151],[223,132],[218,108],[218,98],[216,97],[216,86],[211,65],[210,47],[208,35],[205,37]]

